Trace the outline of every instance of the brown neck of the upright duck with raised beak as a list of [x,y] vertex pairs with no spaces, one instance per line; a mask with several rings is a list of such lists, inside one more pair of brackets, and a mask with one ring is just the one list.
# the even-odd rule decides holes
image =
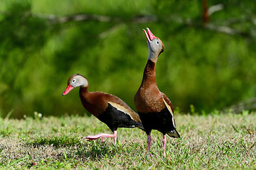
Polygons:
[[152,60],[148,60],[148,62],[146,63],[146,67],[144,69],[142,83],[144,82],[150,82],[151,84],[156,83],[155,66],[156,66],[156,62],[153,62]]

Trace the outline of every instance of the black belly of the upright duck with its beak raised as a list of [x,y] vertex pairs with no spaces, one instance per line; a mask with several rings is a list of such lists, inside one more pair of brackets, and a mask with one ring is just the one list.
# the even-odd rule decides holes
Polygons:
[[151,130],[159,130],[163,135],[176,131],[172,115],[167,108],[158,113],[139,113],[139,117],[147,135],[150,134]]

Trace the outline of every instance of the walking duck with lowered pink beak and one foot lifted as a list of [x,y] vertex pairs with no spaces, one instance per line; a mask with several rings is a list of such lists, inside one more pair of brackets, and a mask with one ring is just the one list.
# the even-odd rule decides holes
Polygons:
[[144,130],[139,115],[132,111],[129,106],[120,98],[112,94],[100,91],[89,92],[88,81],[80,74],[74,74],[68,79],[68,86],[63,95],[68,94],[75,87],[80,87],[79,96],[82,106],[105,123],[113,134],[100,133],[82,137],[87,140],[97,140],[102,137],[114,138],[114,145],[117,142],[117,128],[135,128]]

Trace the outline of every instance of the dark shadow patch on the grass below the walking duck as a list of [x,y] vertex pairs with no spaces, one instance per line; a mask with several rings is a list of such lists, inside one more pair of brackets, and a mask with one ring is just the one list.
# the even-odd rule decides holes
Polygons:
[[31,142],[26,142],[26,145],[31,147],[45,147],[46,145],[54,147],[54,149],[66,148],[68,153],[65,157],[72,158],[75,155],[77,159],[92,159],[97,160],[102,157],[113,157],[119,150],[119,147],[99,140],[91,142],[82,142],[84,140],[78,137],[38,137]]

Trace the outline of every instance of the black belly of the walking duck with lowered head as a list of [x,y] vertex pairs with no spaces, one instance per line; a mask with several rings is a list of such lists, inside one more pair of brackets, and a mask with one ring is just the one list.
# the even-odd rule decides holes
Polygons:
[[117,110],[117,108],[114,108],[110,103],[108,104],[106,111],[100,114],[97,118],[103,123],[106,123],[113,132],[114,130],[117,130],[117,128],[139,127],[144,129],[142,123],[132,120],[129,115]]

